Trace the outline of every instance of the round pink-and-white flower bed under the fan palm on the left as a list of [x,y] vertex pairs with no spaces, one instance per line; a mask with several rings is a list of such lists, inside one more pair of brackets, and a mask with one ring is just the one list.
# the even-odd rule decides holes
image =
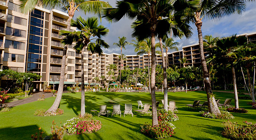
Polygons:
[[63,128],[69,134],[85,134],[96,132],[101,129],[101,121],[91,119],[92,115],[86,113],[84,117],[74,117],[63,124]]

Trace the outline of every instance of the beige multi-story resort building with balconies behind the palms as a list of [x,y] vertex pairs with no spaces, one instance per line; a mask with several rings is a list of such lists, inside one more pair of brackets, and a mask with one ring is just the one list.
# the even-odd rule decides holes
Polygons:
[[[42,88],[43,82],[58,84],[63,55],[63,45],[60,43],[63,36],[59,35],[60,30],[66,30],[68,14],[58,10],[46,10],[36,7],[28,14],[21,13],[18,0],[0,0],[0,68],[12,69],[19,72],[32,72],[42,76],[34,81],[36,91]],[[71,31],[75,28],[71,27]],[[248,42],[256,42],[256,33],[242,34],[247,36]],[[74,44],[73,44],[74,45]],[[108,77],[108,65],[116,64],[114,76],[117,77],[121,69],[120,54],[102,53],[101,56],[86,50],[83,54],[84,71],[81,71],[81,52],[68,46],[65,82],[70,85],[81,82],[81,74],[84,74],[85,84],[95,83],[95,77]],[[200,63],[199,46],[188,45],[182,50],[168,53],[168,67],[195,66]],[[205,54],[207,57],[207,52]],[[187,58],[186,64],[178,60]],[[162,57],[156,56],[156,64],[163,64]],[[122,69],[129,67],[147,68],[151,65],[151,55],[141,56],[127,55],[122,63]],[[5,84],[5,80],[1,80]]]

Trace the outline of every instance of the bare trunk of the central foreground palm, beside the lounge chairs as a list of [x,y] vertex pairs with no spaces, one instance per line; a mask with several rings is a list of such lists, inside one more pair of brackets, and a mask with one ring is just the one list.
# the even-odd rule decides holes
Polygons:
[[157,105],[155,103],[155,31],[156,25],[151,27],[151,101],[152,101],[152,126],[158,125]]

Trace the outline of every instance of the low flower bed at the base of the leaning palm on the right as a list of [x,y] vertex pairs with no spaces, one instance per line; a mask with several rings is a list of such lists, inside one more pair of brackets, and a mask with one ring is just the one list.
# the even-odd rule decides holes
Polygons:
[[227,111],[220,111],[221,114],[214,115],[210,112],[200,111],[199,114],[205,118],[211,119],[234,119],[234,116]]

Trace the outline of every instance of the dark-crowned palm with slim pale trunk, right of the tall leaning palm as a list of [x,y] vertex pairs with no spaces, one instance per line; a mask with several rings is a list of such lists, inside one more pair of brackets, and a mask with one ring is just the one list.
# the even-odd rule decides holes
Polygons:
[[234,86],[234,99],[235,99],[235,107],[239,108],[238,105],[238,95],[237,95],[237,86],[236,86],[236,73],[234,69],[234,64],[236,57],[234,56],[234,52],[236,50],[244,45],[247,42],[246,37],[244,36],[236,36],[233,35],[231,37],[226,37],[219,39],[216,42],[216,49],[214,49],[216,52],[214,52],[215,58],[217,59],[217,63],[226,63],[230,65],[232,69],[232,75],[233,75],[233,86]]

